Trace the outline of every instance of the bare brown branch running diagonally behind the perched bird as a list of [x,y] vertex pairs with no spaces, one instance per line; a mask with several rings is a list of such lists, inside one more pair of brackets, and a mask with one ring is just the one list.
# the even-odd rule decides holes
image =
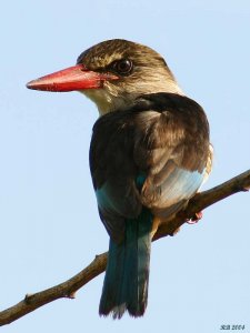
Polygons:
[[[229,195],[248,190],[250,190],[250,170],[222,183],[221,185],[196,194],[189,201],[184,210],[180,211],[168,224],[159,228],[153,240],[156,241],[167,235],[173,235],[174,231],[186,223],[187,220],[191,219],[197,212],[200,212]],[[86,269],[61,284],[34,294],[27,294],[21,302],[0,312],[0,325],[10,324],[36,309],[58,299],[73,299],[76,292],[80,287],[106,270],[107,256],[108,252],[97,255]]]

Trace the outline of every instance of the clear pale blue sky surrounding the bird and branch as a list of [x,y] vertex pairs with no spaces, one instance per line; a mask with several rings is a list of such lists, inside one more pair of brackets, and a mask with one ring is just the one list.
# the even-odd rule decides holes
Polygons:
[[[108,248],[88,167],[97,110],[79,93],[30,91],[29,80],[74,64],[106,39],[148,44],[207,111],[216,159],[206,188],[249,169],[249,1],[4,1],[0,24],[0,309]],[[250,194],[237,194],[153,244],[143,319],[99,319],[102,274],[74,301],[1,331],[211,333],[244,324],[250,332],[249,204]]]

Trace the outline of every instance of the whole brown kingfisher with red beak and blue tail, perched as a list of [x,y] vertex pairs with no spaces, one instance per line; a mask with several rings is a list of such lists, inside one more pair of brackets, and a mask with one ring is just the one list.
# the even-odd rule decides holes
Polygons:
[[79,91],[97,104],[89,161],[100,220],[110,236],[99,313],[142,316],[152,238],[211,171],[203,109],[182,92],[158,52],[123,39],[100,42],[76,65],[27,87]]

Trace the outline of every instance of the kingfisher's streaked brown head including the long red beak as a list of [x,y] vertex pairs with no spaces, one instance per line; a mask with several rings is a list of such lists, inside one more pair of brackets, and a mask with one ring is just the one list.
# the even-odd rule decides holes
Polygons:
[[78,58],[77,65],[30,81],[44,91],[80,91],[100,114],[122,110],[139,95],[156,92],[182,94],[163,58],[152,49],[121,39],[101,42]]

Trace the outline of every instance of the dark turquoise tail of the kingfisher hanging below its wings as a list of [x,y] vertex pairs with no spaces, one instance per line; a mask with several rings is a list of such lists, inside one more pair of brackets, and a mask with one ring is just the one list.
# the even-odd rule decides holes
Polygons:
[[148,302],[152,215],[143,209],[126,222],[124,240],[110,239],[109,258],[99,306],[100,315],[120,319],[126,311],[141,316]]

